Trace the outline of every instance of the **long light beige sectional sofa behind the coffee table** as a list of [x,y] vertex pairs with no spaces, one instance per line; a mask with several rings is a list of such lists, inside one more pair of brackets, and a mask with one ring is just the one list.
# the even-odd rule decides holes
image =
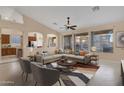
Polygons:
[[36,61],[41,62],[43,64],[56,62],[58,60],[61,60],[62,58],[67,58],[69,60],[73,60],[80,63],[88,63],[90,61],[90,58],[88,56],[79,56],[73,54],[55,54],[50,56],[36,55]]

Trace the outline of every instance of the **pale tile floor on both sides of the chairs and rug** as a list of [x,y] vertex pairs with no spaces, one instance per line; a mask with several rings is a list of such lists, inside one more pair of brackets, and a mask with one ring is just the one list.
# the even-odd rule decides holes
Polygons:
[[[7,59],[8,60],[8,59]],[[34,85],[32,76],[28,82],[24,82],[21,77],[21,68],[17,61],[0,63],[0,85]],[[121,86],[120,62],[100,60],[100,68],[95,76],[87,84],[88,86]],[[16,83],[15,83],[16,82]]]

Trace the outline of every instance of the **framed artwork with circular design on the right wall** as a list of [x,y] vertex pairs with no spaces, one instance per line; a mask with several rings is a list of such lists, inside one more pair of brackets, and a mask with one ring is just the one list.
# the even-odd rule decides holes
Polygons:
[[124,48],[124,31],[116,33],[116,46],[118,48]]

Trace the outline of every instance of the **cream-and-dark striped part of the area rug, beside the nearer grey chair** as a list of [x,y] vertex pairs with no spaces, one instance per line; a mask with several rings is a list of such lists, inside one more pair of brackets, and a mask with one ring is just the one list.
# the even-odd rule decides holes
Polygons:
[[58,66],[57,63],[46,64],[45,66],[48,68],[57,68],[60,70],[60,82],[62,86],[86,86],[95,75],[95,73],[92,73],[92,71],[85,71],[84,68],[80,66],[77,66],[72,71],[61,70],[64,69],[64,67]]

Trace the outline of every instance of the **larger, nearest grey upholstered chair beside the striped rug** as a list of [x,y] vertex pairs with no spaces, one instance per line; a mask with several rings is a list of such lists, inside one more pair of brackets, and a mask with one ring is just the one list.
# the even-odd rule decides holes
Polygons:
[[[36,62],[31,62],[33,78],[36,81],[35,85],[51,86],[59,81],[60,73],[56,69],[45,68]],[[61,85],[60,81],[59,84]]]

